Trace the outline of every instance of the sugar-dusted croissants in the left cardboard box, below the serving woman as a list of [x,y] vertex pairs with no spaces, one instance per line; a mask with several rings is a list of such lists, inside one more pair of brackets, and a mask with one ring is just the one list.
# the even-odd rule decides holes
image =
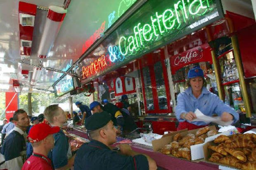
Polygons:
[[173,136],[173,142],[167,144],[161,149],[163,154],[172,154],[178,158],[191,160],[190,146],[204,143],[206,137],[216,135],[216,130],[210,130],[208,126],[197,130],[196,134],[189,133],[186,136],[177,133]]

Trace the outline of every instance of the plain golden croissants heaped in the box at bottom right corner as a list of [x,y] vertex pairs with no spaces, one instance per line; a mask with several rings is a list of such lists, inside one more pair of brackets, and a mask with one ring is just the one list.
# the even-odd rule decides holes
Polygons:
[[234,166],[242,170],[256,170],[256,134],[220,135],[208,148],[214,152],[209,161]]

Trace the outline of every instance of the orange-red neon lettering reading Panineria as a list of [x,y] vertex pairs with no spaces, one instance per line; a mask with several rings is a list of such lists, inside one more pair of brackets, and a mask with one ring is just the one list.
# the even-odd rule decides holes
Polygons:
[[83,79],[94,75],[99,69],[104,69],[105,66],[107,66],[105,55],[102,55],[93,62],[90,61],[90,65],[82,67]]

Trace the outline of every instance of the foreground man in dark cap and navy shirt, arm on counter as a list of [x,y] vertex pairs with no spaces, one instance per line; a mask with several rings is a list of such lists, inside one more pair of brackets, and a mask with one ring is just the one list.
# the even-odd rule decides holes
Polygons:
[[117,145],[120,152],[110,149],[116,142],[116,128],[109,113],[94,113],[86,119],[85,128],[91,141],[76,152],[75,170],[156,170],[152,158],[133,151],[127,144]]

